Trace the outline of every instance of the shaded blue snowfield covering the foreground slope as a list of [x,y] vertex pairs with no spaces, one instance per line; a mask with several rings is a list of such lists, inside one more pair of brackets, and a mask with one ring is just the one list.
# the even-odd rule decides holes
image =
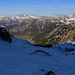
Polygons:
[[75,45],[42,48],[17,38],[11,44],[0,40],[0,75],[45,75],[48,71],[75,75]]

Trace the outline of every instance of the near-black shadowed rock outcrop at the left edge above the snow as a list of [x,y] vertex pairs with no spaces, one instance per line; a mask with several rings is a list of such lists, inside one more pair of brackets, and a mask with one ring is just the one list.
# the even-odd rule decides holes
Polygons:
[[8,41],[9,43],[12,42],[11,36],[10,36],[9,32],[6,31],[5,28],[0,28],[0,38],[3,41]]

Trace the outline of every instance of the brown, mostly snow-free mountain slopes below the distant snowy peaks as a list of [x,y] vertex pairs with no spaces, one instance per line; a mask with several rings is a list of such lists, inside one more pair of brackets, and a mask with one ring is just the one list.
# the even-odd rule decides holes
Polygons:
[[10,33],[15,37],[40,45],[75,42],[75,23],[57,25],[50,20],[38,21],[35,19],[27,22],[25,20],[20,25],[13,27]]

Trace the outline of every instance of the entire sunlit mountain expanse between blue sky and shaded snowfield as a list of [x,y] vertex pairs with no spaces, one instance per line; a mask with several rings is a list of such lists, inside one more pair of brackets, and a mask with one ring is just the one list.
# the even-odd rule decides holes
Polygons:
[[[35,44],[75,43],[75,14],[70,16],[16,15],[2,17],[1,27]],[[40,39],[41,38],[41,39]]]

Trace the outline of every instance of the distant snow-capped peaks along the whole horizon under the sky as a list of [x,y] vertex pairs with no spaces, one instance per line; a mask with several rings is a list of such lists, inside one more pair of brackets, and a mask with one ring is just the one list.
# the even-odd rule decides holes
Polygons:
[[39,19],[40,18],[47,18],[51,20],[53,23],[64,23],[64,24],[70,24],[75,22],[75,14],[69,15],[69,16],[37,16],[37,15],[24,15],[24,14],[17,14],[15,16],[0,16],[0,25],[9,26],[14,24],[20,24],[25,19]]

